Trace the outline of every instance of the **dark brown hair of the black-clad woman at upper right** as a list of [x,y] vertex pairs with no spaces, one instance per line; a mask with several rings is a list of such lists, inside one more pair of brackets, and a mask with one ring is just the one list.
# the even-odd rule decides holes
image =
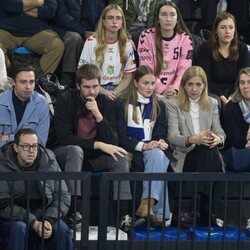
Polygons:
[[211,33],[211,47],[212,47],[212,55],[215,61],[219,61],[222,59],[221,54],[219,52],[219,40],[218,40],[218,35],[217,35],[217,29],[221,21],[226,20],[226,19],[232,19],[234,22],[234,38],[230,43],[229,46],[229,59],[232,61],[237,61],[239,58],[239,48],[238,48],[238,33],[237,33],[237,25],[236,25],[236,20],[235,17],[228,13],[228,12],[220,12],[214,21],[212,33]]

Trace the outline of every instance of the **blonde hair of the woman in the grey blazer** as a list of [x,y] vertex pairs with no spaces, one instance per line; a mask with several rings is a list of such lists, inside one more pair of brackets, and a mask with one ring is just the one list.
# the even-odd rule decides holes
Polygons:
[[191,66],[183,74],[181,78],[180,88],[177,94],[177,103],[179,108],[187,112],[190,110],[190,101],[184,87],[189,79],[195,76],[199,76],[202,79],[203,84],[205,85],[199,100],[200,108],[203,110],[209,110],[212,105],[208,97],[207,76],[205,71],[199,66]]

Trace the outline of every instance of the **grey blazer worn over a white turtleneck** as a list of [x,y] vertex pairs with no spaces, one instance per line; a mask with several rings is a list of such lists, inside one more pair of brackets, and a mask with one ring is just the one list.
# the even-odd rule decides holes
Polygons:
[[[209,110],[200,110],[200,131],[211,130],[222,139],[224,144],[225,133],[221,128],[218,103],[209,97],[212,105]],[[187,137],[194,135],[194,127],[190,112],[181,110],[175,99],[166,100],[168,113],[168,140],[174,147],[171,167],[174,172],[182,172],[186,154],[190,152],[195,144],[186,147]]]

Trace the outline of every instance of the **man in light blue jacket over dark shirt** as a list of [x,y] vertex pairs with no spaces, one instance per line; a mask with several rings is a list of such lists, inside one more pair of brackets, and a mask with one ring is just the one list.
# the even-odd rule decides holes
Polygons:
[[49,106],[45,97],[34,91],[34,67],[17,64],[11,77],[13,88],[0,94],[0,147],[13,141],[21,128],[34,129],[39,143],[45,146],[50,126]]

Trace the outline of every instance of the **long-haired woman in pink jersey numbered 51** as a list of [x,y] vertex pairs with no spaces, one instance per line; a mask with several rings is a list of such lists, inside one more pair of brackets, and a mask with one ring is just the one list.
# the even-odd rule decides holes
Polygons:
[[156,93],[175,96],[184,71],[192,65],[193,52],[191,35],[175,3],[159,6],[155,28],[142,32],[137,51],[139,64],[156,73]]

